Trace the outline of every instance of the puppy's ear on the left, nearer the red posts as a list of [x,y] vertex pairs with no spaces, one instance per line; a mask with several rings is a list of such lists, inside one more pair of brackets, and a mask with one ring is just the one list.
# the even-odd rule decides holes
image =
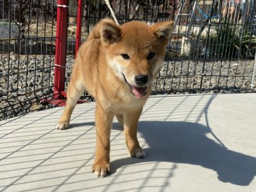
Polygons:
[[103,20],[100,26],[100,38],[105,46],[117,42],[121,37],[121,28],[114,21],[107,19]]

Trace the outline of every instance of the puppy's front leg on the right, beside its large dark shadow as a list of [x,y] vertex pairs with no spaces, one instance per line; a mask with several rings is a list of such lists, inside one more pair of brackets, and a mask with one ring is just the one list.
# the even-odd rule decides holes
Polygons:
[[137,125],[141,113],[142,108],[124,113],[124,134],[129,155],[142,159],[144,158],[145,153],[142,150],[142,147],[139,146],[139,141],[137,139]]

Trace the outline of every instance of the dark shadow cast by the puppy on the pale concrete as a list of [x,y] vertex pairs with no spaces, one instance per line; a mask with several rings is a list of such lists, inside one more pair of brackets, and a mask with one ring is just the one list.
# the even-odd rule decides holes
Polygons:
[[[113,129],[121,130],[118,124]],[[212,169],[218,179],[240,186],[250,184],[256,175],[256,158],[231,151],[206,137],[208,127],[191,122],[139,122],[139,132],[149,144],[146,158],[112,161],[112,171],[142,161],[168,161]]]

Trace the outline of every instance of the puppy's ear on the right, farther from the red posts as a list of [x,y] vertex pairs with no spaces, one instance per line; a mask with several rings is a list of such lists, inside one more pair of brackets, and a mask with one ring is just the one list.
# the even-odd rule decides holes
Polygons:
[[168,43],[171,37],[171,32],[174,29],[174,21],[164,21],[155,23],[150,27],[154,35],[159,38],[160,41]]

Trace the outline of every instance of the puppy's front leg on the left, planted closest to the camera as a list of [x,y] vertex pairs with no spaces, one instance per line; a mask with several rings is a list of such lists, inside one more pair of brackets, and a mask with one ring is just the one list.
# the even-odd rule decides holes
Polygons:
[[95,164],[92,172],[95,176],[107,176],[110,171],[110,132],[114,114],[103,110],[96,104],[95,123],[97,130]]

